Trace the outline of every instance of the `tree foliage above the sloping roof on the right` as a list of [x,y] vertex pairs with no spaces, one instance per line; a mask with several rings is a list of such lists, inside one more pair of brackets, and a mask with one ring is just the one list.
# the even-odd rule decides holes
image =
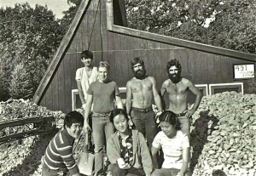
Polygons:
[[256,53],[256,0],[125,2],[131,28]]

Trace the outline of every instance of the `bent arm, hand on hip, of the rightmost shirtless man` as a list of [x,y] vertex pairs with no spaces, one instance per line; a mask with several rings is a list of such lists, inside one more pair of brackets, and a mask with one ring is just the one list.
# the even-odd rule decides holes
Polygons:
[[189,116],[192,116],[195,113],[195,111],[198,109],[201,102],[202,94],[200,90],[195,87],[195,84],[193,82],[190,82],[188,80],[187,85],[189,87],[189,90],[196,96],[195,104],[193,105],[193,108],[186,113],[186,116],[189,117]]

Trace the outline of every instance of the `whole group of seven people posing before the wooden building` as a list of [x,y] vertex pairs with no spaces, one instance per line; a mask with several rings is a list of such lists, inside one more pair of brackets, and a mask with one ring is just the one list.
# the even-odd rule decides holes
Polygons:
[[[126,83],[124,107],[117,82],[109,79],[108,62],[101,61],[96,68],[91,65],[92,60],[93,54],[83,51],[84,67],[76,72],[84,116],[76,111],[67,114],[65,128],[55,135],[45,152],[43,175],[55,175],[49,173],[63,169],[71,175],[80,175],[72,156],[72,145],[82,128],[84,133],[92,131],[95,175],[104,174],[104,146],[111,163],[108,171],[113,176],[189,175],[189,127],[202,95],[193,82],[181,77],[179,61],[167,62],[169,78],[163,82],[159,94],[156,81],[147,75],[143,60],[133,58],[134,77]],[[192,109],[188,108],[189,91],[196,96]],[[166,93],[168,106],[164,101]],[[154,104],[157,113],[152,108]],[[67,120],[70,117],[73,119]],[[160,149],[164,156],[161,168],[157,161]]]

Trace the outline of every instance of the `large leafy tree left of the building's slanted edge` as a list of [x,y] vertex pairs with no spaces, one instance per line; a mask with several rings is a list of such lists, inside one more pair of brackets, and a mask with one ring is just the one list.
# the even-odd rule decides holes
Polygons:
[[64,36],[60,20],[47,6],[32,9],[28,3],[1,8],[0,19],[0,59],[6,65],[7,80],[22,63],[34,92]]

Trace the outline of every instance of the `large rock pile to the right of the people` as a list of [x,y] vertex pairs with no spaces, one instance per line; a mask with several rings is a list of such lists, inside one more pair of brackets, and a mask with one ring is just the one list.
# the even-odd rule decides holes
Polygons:
[[256,95],[204,97],[193,116],[194,175],[256,175]]

